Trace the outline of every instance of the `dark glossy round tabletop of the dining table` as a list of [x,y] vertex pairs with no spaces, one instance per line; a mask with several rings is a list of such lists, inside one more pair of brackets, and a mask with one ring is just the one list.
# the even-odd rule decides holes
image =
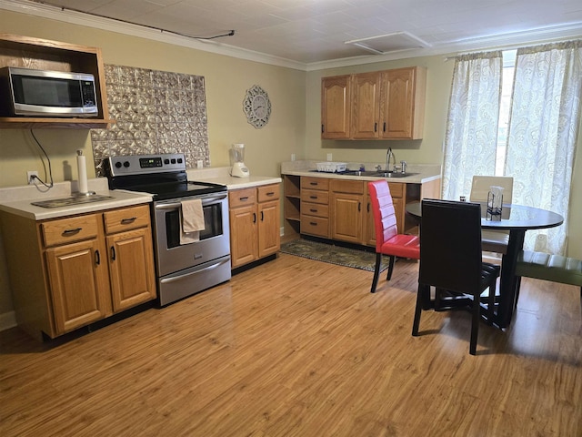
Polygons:
[[[564,222],[564,218],[556,212],[513,204],[503,205],[499,218],[499,216],[487,214],[487,203],[475,203],[481,205],[481,228],[483,229],[546,229],[554,228]],[[406,212],[420,218],[422,216],[421,203],[406,204]]]

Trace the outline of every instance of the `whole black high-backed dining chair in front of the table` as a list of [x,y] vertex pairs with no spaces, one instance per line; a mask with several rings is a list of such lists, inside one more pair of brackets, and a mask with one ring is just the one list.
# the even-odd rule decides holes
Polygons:
[[[469,353],[475,355],[479,321],[491,323],[493,319],[500,273],[499,266],[482,260],[480,205],[423,199],[421,208],[420,268],[412,335],[418,335],[422,310],[468,309],[472,313]],[[481,294],[487,289],[482,302]]]

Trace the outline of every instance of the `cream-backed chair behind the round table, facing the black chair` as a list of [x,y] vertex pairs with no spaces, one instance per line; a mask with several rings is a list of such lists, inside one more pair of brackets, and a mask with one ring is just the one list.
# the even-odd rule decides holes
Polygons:
[[[474,176],[471,184],[472,202],[487,202],[487,193],[491,186],[503,187],[503,202],[511,203],[513,198],[513,178],[507,176]],[[483,250],[487,252],[507,253],[509,242],[508,230],[489,230],[481,232]]]

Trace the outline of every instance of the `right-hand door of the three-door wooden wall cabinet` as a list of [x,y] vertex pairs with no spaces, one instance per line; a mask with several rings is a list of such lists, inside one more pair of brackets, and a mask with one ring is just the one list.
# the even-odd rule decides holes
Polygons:
[[382,73],[383,138],[412,138],[415,68],[386,70]]

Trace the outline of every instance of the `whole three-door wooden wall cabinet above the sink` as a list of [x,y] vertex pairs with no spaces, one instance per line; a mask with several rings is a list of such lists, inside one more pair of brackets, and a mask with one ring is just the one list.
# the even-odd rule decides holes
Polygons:
[[323,139],[420,139],[426,68],[322,78]]

